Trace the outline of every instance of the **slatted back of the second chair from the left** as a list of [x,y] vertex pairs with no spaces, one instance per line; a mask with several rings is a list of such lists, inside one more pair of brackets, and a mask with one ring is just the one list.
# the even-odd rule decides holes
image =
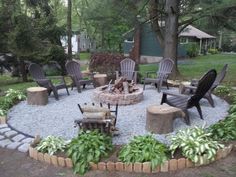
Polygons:
[[66,71],[69,75],[73,75],[77,80],[82,79],[82,73],[80,71],[80,64],[75,61],[68,61],[66,63]]

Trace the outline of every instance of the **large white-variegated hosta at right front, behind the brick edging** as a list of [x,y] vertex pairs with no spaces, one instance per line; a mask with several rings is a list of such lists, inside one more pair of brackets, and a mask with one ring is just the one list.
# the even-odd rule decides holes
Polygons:
[[191,161],[203,164],[204,157],[214,160],[218,149],[224,145],[214,141],[211,133],[200,127],[179,130],[171,137],[170,150],[172,155],[177,149],[182,151],[182,155]]

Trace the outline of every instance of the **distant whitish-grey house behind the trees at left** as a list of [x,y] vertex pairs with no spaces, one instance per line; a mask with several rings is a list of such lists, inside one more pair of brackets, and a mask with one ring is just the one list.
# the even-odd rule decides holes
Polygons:
[[[62,46],[67,50],[67,36],[63,36],[61,39]],[[90,39],[86,32],[81,32],[80,34],[74,34],[71,38],[72,52],[86,52],[94,51],[96,49],[96,43],[94,40]]]

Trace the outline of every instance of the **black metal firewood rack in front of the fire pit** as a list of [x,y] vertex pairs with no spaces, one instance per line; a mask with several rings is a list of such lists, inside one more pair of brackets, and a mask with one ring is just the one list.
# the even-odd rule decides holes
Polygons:
[[[85,103],[85,106],[87,106],[87,103]],[[78,107],[80,109],[80,112],[84,114],[84,106],[78,104]],[[93,103],[92,107],[95,109],[98,109],[98,107]],[[110,104],[106,107],[103,107],[102,103],[100,103],[100,108],[105,108],[105,110],[109,110],[110,113],[114,113],[114,115],[109,115],[105,119],[96,119],[96,118],[83,118],[80,120],[75,120],[75,126],[79,126],[80,129],[83,130],[94,130],[98,129],[100,132],[113,135],[116,120],[117,120],[117,113],[118,113],[118,105],[115,106],[114,110],[111,110]]]

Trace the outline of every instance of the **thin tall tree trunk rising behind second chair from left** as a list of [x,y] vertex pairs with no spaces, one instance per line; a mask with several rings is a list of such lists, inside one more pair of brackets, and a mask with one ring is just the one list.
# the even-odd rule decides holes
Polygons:
[[72,9],[72,3],[71,0],[67,0],[67,37],[68,37],[68,60],[72,59],[72,44],[71,44],[71,37],[72,37],[72,31],[71,31],[71,9]]

